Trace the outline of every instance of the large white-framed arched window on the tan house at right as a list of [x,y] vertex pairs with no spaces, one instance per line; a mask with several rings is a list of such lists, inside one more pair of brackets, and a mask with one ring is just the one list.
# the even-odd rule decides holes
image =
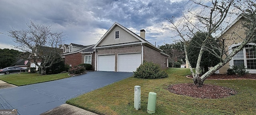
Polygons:
[[256,69],[256,52],[253,47],[253,45],[244,46],[244,48],[233,57],[234,65],[244,65],[247,69]]

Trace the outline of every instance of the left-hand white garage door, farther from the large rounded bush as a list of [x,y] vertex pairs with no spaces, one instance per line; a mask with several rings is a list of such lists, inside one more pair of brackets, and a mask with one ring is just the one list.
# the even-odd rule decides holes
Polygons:
[[98,56],[98,71],[115,71],[115,55]]

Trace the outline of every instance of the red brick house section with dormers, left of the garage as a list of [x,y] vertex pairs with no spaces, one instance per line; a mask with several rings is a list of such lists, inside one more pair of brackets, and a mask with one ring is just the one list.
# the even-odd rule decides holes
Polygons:
[[94,68],[94,49],[92,49],[94,45],[78,45],[70,43],[69,45],[65,44],[63,48],[62,58],[65,59],[65,64],[70,65],[70,67],[74,67],[81,63],[92,64],[92,68]]

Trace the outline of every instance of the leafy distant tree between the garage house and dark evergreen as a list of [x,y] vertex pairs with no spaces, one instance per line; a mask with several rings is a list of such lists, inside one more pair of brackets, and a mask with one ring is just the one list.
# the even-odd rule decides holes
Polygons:
[[172,63],[172,67],[174,67],[175,61],[185,59],[184,46],[180,42],[162,45],[160,49],[170,56],[169,61]]

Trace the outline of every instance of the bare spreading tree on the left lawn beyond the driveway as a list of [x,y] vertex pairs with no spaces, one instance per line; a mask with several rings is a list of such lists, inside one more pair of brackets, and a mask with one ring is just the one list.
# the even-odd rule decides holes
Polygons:
[[13,38],[15,48],[31,52],[30,61],[34,62],[41,69],[41,75],[44,75],[46,68],[62,61],[60,48],[65,41],[64,32],[52,31],[52,26],[36,24],[31,20],[26,26],[27,28],[20,30],[9,30],[7,36]]

